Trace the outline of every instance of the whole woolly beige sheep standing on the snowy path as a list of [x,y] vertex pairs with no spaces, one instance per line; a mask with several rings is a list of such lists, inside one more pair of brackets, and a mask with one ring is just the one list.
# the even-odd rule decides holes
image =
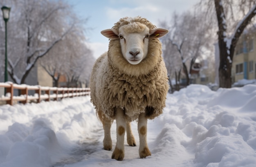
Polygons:
[[117,143],[112,159],[124,158],[124,135],[136,146],[130,122],[138,122],[139,156],[151,156],[148,149],[147,120],[162,114],[169,89],[167,70],[159,37],[167,29],[156,28],[146,18],[121,18],[112,29],[101,31],[108,37],[108,52],[95,62],[91,78],[91,102],[104,129],[103,149],[112,150],[110,127],[117,124]]

